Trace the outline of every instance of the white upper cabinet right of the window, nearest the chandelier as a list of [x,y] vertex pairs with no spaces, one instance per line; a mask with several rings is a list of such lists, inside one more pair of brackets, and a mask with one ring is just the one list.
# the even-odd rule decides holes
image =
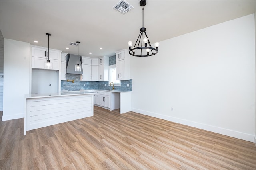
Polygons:
[[130,80],[130,56],[127,49],[116,52],[116,80]]

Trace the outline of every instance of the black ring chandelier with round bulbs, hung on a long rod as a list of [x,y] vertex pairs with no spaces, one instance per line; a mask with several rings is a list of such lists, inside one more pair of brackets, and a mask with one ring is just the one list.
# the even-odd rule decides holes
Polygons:
[[148,36],[146,34],[146,28],[144,28],[144,6],[146,4],[146,0],[140,1],[140,6],[142,6],[142,28],[140,28],[140,34],[134,47],[132,48],[132,41],[128,42],[129,54],[136,57],[148,57],[151,55],[155,55],[158,52],[159,47],[158,42],[154,44],[155,48],[151,46]]

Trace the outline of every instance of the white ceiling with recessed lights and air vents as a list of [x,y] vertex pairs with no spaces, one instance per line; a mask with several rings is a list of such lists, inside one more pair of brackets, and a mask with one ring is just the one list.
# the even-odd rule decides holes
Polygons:
[[[48,47],[46,33],[50,33],[52,49],[77,54],[77,47],[69,43],[80,41],[79,55],[112,56],[115,51],[128,49],[128,41],[135,43],[142,27],[140,0],[127,0],[134,9],[125,15],[112,8],[118,2],[1,0],[1,31],[4,38],[43,47]],[[153,44],[254,12],[254,0],[148,0],[144,27]]]

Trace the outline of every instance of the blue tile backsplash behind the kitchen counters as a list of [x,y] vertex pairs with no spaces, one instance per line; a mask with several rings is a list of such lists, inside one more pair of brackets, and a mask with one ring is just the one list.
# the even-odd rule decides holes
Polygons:
[[[101,89],[112,90],[112,86],[108,86],[108,81],[80,81],[80,74],[67,74],[67,79],[74,79],[74,83],[61,81],[61,90],[77,91],[80,89]],[[84,86],[85,84],[85,86]],[[106,86],[105,86],[106,84]],[[127,87],[129,84],[129,87]],[[121,80],[121,86],[114,86],[115,90],[132,91],[132,79]]]

